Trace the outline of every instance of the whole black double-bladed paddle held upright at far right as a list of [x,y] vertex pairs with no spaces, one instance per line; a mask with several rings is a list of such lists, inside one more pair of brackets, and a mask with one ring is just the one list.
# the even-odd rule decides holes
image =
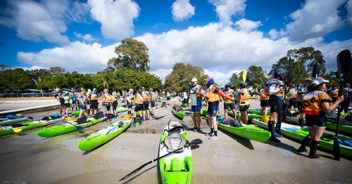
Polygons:
[[[337,55],[337,75],[340,79],[340,89],[339,96],[341,96],[341,90],[344,87],[344,79],[346,78],[351,67],[351,53],[347,49],[341,51]],[[341,103],[337,107],[337,124],[336,124],[336,133],[334,138],[334,147],[332,153],[334,155],[334,159],[337,161],[340,160],[341,157],[341,148],[339,144],[339,140],[337,140],[337,136],[339,136],[339,121],[340,121],[340,112],[341,112]]]

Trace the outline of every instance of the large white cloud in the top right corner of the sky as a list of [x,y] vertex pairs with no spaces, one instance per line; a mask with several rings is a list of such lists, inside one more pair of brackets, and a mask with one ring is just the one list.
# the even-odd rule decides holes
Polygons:
[[289,17],[294,20],[286,26],[291,41],[323,37],[344,25],[337,8],[344,4],[341,0],[307,0],[303,7]]

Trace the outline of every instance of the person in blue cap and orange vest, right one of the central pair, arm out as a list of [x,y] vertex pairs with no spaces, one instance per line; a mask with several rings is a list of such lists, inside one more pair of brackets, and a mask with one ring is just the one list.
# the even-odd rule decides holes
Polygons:
[[218,139],[218,124],[216,123],[216,117],[221,100],[220,96],[227,98],[227,100],[231,100],[231,97],[222,92],[218,86],[215,86],[213,78],[208,77],[208,79],[205,80],[206,86],[208,87],[205,98],[208,102],[208,123],[210,126],[210,133],[207,133],[206,135],[209,136],[208,139],[210,140]]

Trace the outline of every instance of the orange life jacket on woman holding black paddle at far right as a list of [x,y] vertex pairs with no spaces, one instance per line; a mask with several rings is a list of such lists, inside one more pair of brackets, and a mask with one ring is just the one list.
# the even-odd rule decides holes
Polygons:
[[322,91],[311,91],[303,96],[302,100],[303,112],[307,115],[326,114],[322,109],[321,103],[328,102],[332,104],[332,98]]

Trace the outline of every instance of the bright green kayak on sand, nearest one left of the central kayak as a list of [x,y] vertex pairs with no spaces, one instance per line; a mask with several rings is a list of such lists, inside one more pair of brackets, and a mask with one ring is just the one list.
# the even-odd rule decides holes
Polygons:
[[131,118],[131,114],[127,114],[126,117],[121,119],[121,121],[116,121],[115,123],[106,126],[104,129],[101,129],[96,133],[92,133],[82,139],[77,143],[77,147],[82,151],[87,151],[92,150],[99,145],[103,145],[125,131],[125,129],[131,125],[132,120],[133,118]]

